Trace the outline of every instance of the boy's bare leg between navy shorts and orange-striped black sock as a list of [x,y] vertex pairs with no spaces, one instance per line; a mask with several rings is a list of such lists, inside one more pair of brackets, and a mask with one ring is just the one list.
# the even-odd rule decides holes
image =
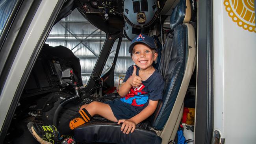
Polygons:
[[80,108],[85,108],[91,116],[94,116],[95,114],[98,114],[108,120],[111,120],[113,122],[117,122],[117,118],[115,118],[111,107],[106,103],[101,102],[91,102],[87,105],[82,105]]

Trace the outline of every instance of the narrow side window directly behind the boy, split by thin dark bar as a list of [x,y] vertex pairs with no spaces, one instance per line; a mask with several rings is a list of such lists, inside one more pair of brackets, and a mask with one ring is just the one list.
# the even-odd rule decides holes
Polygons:
[[[107,59],[107,62],[104,66],[104,69],[102,71],[102,76],[108,72],[108,70],[111,68],[113,63],[113,58],[116,54],[117,49],[117,43],[118,39],[113,44],[113,47],[111,49],[111,52],[109,54],[109,57]],[[126,70],[129,66],[134,65],[134,62],[132,61],[132,57],[130,53],[128,52],[128,48],[130,46],[130,41],[126,38],[122,39],[122,43],[120,46],[117,62],[115,65],[115,72],[114,72],[114,87],[119,87],[119,83],[122,82],[122,79],[124,78],[126,74]]]

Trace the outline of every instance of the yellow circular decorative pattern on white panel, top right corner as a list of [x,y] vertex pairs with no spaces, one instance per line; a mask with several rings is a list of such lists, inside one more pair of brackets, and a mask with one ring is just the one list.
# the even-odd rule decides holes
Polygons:
[[254,0],[224,0],[224,6],[239,27],[256,33]]

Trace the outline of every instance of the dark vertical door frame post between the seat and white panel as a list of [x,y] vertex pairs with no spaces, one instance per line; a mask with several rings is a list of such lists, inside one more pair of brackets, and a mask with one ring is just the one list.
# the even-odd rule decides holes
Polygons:
[[198,1],[197,17],[197,96],[194,142],[210,144],[214,123],[212,0]]

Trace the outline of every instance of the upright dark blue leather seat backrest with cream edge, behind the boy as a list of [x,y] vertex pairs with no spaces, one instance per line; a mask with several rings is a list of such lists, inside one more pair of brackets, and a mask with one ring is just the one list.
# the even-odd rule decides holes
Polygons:
[[[177,122],[180,123],[184,97],[195,68],[195,31],[191,24],[182,24],[184,18],[189,21],[187,14],[191,17],[186,9],[190,7],[190,3],[187,4],[186,1],[189,2],[189,0],[180,0],[171,15],[170,24],[173,34],[167,36],[159,67],[165,80],[165,89],[163,99],[159,102],[151,121],[155,129],[163,132],[168,125],[170,134],[167,135],[171,135],[174,127],[177,127]],[[165,134],[162,133],[162,135]]]

